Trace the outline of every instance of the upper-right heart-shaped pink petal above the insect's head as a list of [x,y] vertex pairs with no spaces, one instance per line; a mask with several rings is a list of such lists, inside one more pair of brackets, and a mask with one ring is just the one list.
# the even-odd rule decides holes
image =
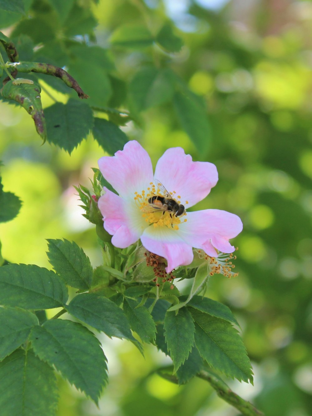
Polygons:
[[183,205],[188,201],[186,208],[205,198],[218,182],[217,168],[213,163],[193,162],[181,147],[165,151],[157,162],[154,177],[167,191],[176,191]]

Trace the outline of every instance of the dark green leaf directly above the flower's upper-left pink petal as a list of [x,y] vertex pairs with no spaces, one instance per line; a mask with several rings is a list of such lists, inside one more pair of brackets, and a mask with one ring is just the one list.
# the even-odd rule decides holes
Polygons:
[[99,145],[111,155],[117,150],[122,150],[128,141],[126,134],[116,124],[105,119],[94,119],[93,136]]

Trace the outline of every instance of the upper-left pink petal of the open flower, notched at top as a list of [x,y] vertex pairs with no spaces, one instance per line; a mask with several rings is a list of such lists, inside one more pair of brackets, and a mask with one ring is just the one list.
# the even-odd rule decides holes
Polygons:
[[106,181],[122,197],[134,197],[134,192],[146,190],[153,182],[149,154],[136,140],[128,141],[115,156],[103,156],[98,163]]

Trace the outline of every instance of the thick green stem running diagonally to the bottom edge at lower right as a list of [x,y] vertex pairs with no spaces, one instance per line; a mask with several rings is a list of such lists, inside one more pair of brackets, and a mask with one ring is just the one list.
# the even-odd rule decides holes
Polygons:
[[264,414],[260,412],[260,410],[256,409],[255,406],[253,406],[249,401],[246,401],[242,397],[238,396],[238,394],[229,389],[226,384],[210,376],[207,371],[201,370],[197,376],[208,381],[210,386],[215,389],[221,399],[235,407],[235,409],[238,409],[244,416],[264,416]]

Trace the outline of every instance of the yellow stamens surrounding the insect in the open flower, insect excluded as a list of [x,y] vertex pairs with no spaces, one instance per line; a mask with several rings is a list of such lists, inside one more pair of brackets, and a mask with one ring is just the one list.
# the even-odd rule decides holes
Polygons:
[[[135,192],[134,201],[136,201],[136,205],[139,207],[139,209],[142,211],[142,216],[145,218],[145,221],[149,223],[149,225],[153,225],[153,227],[168,227],[173,228],[173,230],[178,230],[178,225],[182,222],[186,222],[187,219],[181,220],[181,217],[177,217],[175,213],[161,210],[161,202],[155,201],[155,205],[159,206],[159,211],[157,208],[153,207],[149,203],[149,198],[152,196],[161,196],[165,197],[159,189],[159,187],[155,186],[153,182],[150,183],[150,187],[147,188],[146,191],[141,191],[141,193]],[[170,195],[173,196],[176,194],[176,191],[170,192]],[[178,200],[175,199],[175,201],[180,204],[181,196],[178,196]],[[174,199],[174,198],[172,198]],[[186,201],[187,203],[187,201]],[[186,213],[184,214],[186,215]]]

